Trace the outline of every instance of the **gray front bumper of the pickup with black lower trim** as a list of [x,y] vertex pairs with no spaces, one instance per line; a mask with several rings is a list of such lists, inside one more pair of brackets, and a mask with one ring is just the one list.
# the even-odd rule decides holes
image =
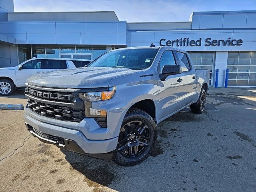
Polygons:
[[[39,117],[38,115],[31,112],[30,109],[25,108],[24,120],[26,122],[26,126],[30,133],[33,136],[36,136],[42,142],[55,144],[59,148],[74,151],[80,154],[85,154],[88,156],[94,156],[96,158],[102,158],[100,154],[106,154],[116,149],[118,137],[104,140],[89,140],[81,132],[82,127],[78,127],[77,124],[73,128],[60,125],[57,126],[55,124],[51,124],[50,122],[43,122],[36,119]],[[53,137],[55,136],[61,138],[64,141],[64,143],[58,143],[56,140],[51,140],[44,135],[40,136],[40,134],[36,134],[36,131],[34,131],[33,129],[37,130],[37,133],[42,133],[45,134],[46,136],[50,135]],[[66,143],[66,141],[68,143]],[[109,158],[110,157],[108,157],[108,159]]]

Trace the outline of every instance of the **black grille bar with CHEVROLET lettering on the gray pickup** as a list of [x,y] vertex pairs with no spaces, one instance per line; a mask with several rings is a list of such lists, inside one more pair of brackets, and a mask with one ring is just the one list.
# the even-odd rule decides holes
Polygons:
[[46,100],[72,101],[72,95],[57,94],[57,93],[51,93],[51,92],[42,92],[42,91],[34,90],[31,88],[26,88],[25,94],[29,94],[31,96],[35,96],[37,98],[42,98],[42,99],[46,99]]

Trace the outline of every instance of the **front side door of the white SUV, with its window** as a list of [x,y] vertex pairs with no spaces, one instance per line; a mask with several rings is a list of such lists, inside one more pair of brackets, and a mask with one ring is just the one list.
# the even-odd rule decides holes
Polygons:
[[41,59],[34,59],[24,63],[20,70],[16,68],[15,74],[18,86],[24,87],[27,78],[39,72],[43,72]]

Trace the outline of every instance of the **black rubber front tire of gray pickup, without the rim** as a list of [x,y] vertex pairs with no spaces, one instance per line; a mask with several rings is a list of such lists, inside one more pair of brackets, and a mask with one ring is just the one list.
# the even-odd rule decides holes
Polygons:
[[124,116],[124,120],[122,122],[121,128],[127,123],[136,121],[136,120],[142,121],[144,124],[148,126],[150,130],[150,140],[149,140],[148,147],[139,156],[132,157],[132,158],[126,158],[122,156],[120,152],[118,152],[118,147],[117,147],[116,150],[114,150],[112,160],[118,165],[134,166],[136,164],[141,163],[146,158],[148,158],[148,156],[150,155],[150,152],[152,151],[152,149],[154,148],[154,145],[156,144],[156,140],[157,140],[156,123],[154,122],[153,118],[143,110],[136,109],[136,108],[131,108],[130,110],[128,110],[128,112]]

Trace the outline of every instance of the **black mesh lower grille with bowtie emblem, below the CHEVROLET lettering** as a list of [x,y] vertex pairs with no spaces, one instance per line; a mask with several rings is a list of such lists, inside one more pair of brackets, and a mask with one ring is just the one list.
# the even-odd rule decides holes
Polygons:
[[81,122],[85,118],[84,108],[70,108],[60,105],[46,104],[32,99],[27,99],[27,101],[30,110],[48,118],[73,122]]

